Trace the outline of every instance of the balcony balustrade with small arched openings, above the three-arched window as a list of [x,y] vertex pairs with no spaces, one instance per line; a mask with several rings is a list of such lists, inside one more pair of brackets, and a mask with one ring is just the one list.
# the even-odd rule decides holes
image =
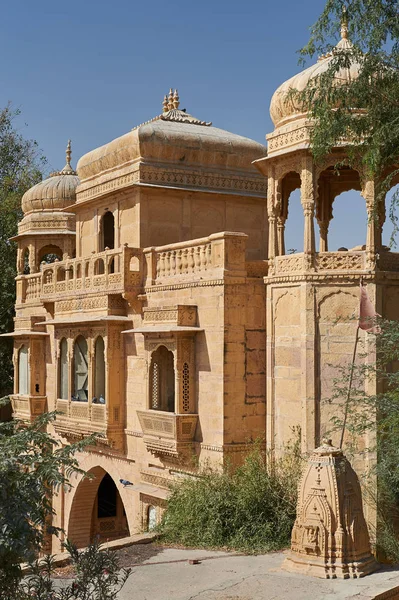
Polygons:
[[141,285],[141,251],[124,247],[41,267],[41,299],[82,293],[122,294]]

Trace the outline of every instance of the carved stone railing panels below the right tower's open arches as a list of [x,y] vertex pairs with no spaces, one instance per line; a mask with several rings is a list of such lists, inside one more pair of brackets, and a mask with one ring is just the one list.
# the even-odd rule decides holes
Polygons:
[[[318,252],[314,256],[314,270],[317,273],[334,271],[363,271],[366,269],[366,253],[357,252]],[[285,275],[305,271],[305,257],[299,254],[276,256],[274,275]]]

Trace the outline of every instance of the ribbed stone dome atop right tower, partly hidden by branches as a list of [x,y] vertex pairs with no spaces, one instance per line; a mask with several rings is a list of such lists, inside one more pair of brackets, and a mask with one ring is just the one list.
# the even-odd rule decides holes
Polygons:
[[[308,67],[301,73],[294,75],[288,81],[285,81],[274,92],[270,103],[270,116],[275,127],[285,124],[287,121],[295,120],[304,116],[303,108],[295,98],[287,99],[290,90],[303,91],[311,79],[315,79],[321,73],[327,71],[337,51],[345,51],[353,48],[348,40],[348,28],[344,22],[341,28],[341,40],[332,52],[321,56],[315,65]],[[335,77],[342,83],[347,83],[356,79],[359,75],[360,65],[353,62],[349,69],[341,69]]]

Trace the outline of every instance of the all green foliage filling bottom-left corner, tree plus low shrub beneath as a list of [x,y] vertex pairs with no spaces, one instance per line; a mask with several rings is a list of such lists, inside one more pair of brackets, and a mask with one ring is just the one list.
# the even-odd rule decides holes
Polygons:
[[[72,473],[84,475],[75,455],[95,443],[92,436],[62,445],[47,432],[55,418],[46,413],[29,424],[0,422],[0,600],[113,600],[129,572],[120,570],[116,555],[97,541],[81,552],[65,544],[76,575],[62,589],[52,579],[52,558],[38,560],[47,536],[61,532],[51,525],[52,493],[70,488]],[[23,562],[31,563],[28,578]]]

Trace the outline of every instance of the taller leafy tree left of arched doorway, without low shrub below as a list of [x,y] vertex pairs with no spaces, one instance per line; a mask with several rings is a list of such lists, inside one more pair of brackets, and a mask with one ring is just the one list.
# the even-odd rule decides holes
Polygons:
[[72,473],[84,474],[75,454],[93,443],[62,446],[46,431],[54,418],[0,423],[0,589],[10,594],[21,577],[19,563],[34,560],[46,534],[56,533],[48,526],[50,491],[69,487]]

